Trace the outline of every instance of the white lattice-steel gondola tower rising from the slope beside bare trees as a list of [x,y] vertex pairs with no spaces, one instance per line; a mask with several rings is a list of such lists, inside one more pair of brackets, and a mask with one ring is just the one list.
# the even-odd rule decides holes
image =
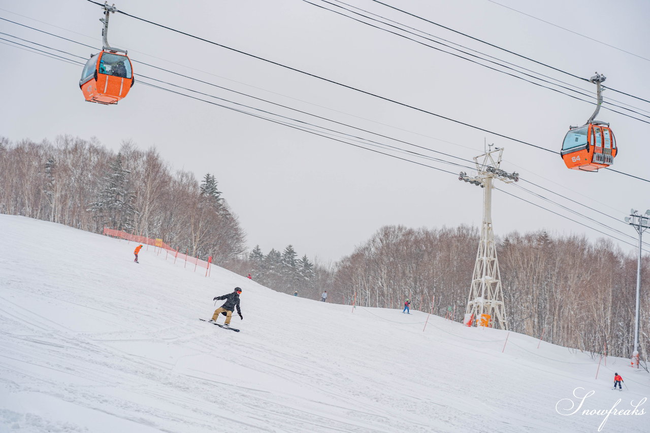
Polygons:
[[[458,179],[483,189],[481,239],[476,252],[476,264],[465,313],[473,315],[471,317],[477,324],[505,330],[508,329],[508,322],[504,311],[499,260],[492,231],[492,189],[493,179],[511,183],[519,180],[519,174],[509,174],[500,169],[502,154],[503,148],[495,148],[474,157],[478,174],[469,177],[461,172]],[[489,319],[486,315],[489,315]]]

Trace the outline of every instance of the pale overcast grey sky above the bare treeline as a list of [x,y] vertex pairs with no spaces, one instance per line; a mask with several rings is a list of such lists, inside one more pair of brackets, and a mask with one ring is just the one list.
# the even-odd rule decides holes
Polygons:
[[[335,8],[320,0],[310,1]],[[564,86],[578,86],[591,95],[590,101],[595,100],[595,86],[590,83],[370,0],[346,3],[560,79],[567,83]],[[650,59],[650,2],[499,1],[506,7],[489,0],[385,3],[580,77],[591,77],[595,71],[604,73],[605,86],[650,99],[650,60],[646,60]],[[120,0],[116,7],[136,17],[553,151],[560,149],[569,125],[583,124],[593,112],[591,103],[441,53],[302,0]],[[0,0],[0,17],[97,47],[96,51],[101,48],[101,8],[86,0]],[[0,31],[86,59],[93,51],[8,21],[0,21]],[[27,44],[10,36],[0,37]],[[560,156],[549,151],[292,72],[122,14],[110,17],[109,42],[129,50],[137,82],[129,96],[116,106],[84,101],[78,86],[81,66],[36,55],[5,40],[0,42],[0,135],[10,140],[36,141],[62,134],[97,137],[115,151],[122,140],[133,140],[143,150],[153,146],[172,167],[190,170],[198,179],[213,173],[240,218],[248,235],[248,247],[259,244],[265,253],[270,248],[283,249],[293,244],[298,254],[336,261],[386,224],[413,228],[479,226],[482,191],[458,181],[454,174],[146,86],[143,82],[149,80],[143,75],[303,122],[458,161],[180,78],[142,62],[464,159],[482,153],[484,142],[494,143],[505,149],[504,170],[519,172],[523,179],[619,221],[630,207],[642,211],[650,208],[650,183],[646,181],[607,170],[597,174],[567,170]],[[207,96],[194,96],[220,103]],[[649,103],[612,90],[607,90],[604,97],[606,101],[616,99],[619,105],[636,107],[640,114],[632,115],[650,122]],[[610,122],[617,138],[620,155],[613,168],[650,178],[650,124],[607,109],[602,109],[598,118]],[[349,137],[346,140],[350,141]],[[453,173],[469,171],[405,153],[387,153]],[[623,222],[520,181],[497,187],[578,222],[496,191],[493,222],[497,235],[544,228],[558,234],[584,233],[590,239],[604,236],[590,230],[589,226],[595,226],[590,220],[531,196],[520,186],[541,192],[628,235],[636,234]],[[612,234],[635,242],[625,235]],[[634,246],[617,243],[626,251],[634,250]]]

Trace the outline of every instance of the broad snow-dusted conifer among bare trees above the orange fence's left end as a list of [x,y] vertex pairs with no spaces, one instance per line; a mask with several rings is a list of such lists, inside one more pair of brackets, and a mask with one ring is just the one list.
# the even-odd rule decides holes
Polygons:
[[99,192],[95,202],[89,204],[88,211],[102,226],[116,230],[133,230],[135,216],[135,194],[129,185],[129,170],[123,168],[122,153],[118,153],[115,161],[110,164],[110,172],[104,177],[105,187]]

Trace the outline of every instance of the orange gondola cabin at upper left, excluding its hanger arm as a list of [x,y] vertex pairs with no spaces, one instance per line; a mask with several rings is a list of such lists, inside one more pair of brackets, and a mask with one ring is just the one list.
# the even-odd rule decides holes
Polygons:
[[127,55],[101,51],[90,57],[81,73],[79,87],[88,102],[116,104],[135,82]]

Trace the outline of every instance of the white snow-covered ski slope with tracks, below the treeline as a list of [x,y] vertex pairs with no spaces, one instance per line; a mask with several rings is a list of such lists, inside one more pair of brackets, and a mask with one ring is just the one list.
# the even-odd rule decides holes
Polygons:
[[[595,379],[598,359],[525,335],[206,278],[151,246],[138,265],[134,243],[29,218],[0,233],[0,432],[650,431],[627,360]],[[198,320],[235,286],[241,332]]]

